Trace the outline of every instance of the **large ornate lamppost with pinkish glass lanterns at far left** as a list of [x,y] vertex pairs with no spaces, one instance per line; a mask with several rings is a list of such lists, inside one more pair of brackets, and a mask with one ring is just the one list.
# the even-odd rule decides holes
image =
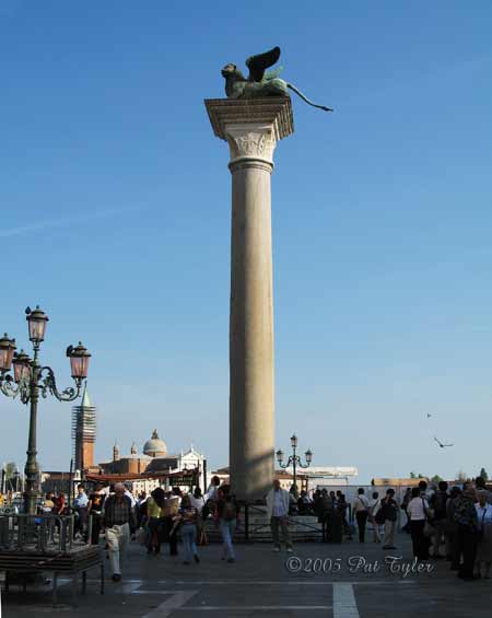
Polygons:
[[[39,306],[36,306],[34,311],[27,307],[25,313],[34,355],[31,359],[24,350],[16,353],[15,339],[10,339],[7,333],[0,338],[0,390],[7,397],[15,398],[19,396],[23,404],[31,404],[27,460],[24,468],[24,512],[32,515],[36,513],[38,497],[36,421],[39,394],[46,398],[49,393],[60,401],[73,401],[77,399],[80,396],[82,381],[87,377],[91,354],[80,341],[78,346],[69,346],[67,348],[67,357],[70,359],[71,374],[75,381],[75,388],[70,386],[65,390],[58,390],[52,369],[42,365],[38,360],[39,348],[45,339],[48,316]],[[8,373],[12,365],[13,376]]]

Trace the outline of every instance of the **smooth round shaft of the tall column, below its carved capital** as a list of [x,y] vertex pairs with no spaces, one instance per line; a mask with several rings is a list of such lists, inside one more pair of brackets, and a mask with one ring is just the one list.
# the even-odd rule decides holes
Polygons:
[[272,165],[243,160],[230,167],[230,468],[236,495],[254,500],[273,476]]

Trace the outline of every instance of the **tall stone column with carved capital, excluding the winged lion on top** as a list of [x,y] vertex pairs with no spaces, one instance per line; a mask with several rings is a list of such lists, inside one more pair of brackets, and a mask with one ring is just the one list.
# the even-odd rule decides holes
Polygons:
[[244,500],[262,498],[274,465],[273,150],[293,132],[288,97],[207,100],[216,137],[229,142],[232,173],[230,474]]

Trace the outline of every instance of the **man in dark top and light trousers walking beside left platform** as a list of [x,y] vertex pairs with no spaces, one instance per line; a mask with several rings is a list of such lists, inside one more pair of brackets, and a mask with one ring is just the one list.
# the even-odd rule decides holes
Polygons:
[[106,527],[112,579],[119,582],[121,562],[130,540],[130,527],[137,526],[131,500],[125,494],[125,486],[121,482],[115,485],[115,493],[108,495],[104,502],[103,521]]

